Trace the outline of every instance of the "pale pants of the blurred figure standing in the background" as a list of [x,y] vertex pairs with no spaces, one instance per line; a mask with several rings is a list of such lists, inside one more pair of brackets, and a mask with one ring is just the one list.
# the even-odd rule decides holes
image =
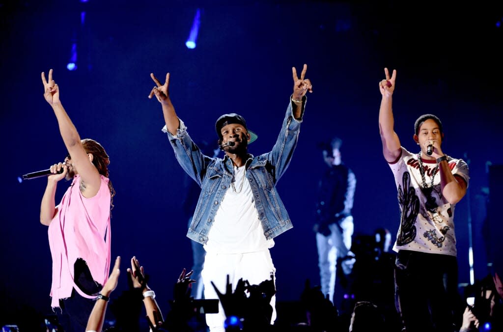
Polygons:
[[332,302],[336,285],[337,259],[346,257],[351,249],[351,236],[354,229],[353,216],[344,218],[339,225],[329,225],[330,235],[328,236],[316,233],[321,292],[324,295],[328,294]]

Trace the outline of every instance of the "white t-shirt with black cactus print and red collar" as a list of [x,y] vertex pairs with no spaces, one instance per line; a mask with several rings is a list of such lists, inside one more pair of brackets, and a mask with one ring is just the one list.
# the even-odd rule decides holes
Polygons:
[[[402,147],[400,158],[390,163],[400,206],[400,227],[393,250],[411,250],[423,253],[456,256],[454,208],[442,195],[440,172],[433,178],[437,162],[423,160],[426,188],[423,188],[417,154]],[[468,165],[462,159],[449,158],[452,174],[460,176],[468,185]],[[430,194],[431,192],[431,194]]]

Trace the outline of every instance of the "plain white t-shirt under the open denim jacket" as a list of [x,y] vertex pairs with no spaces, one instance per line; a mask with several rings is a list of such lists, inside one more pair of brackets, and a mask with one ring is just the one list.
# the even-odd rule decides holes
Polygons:
[[234,167],[233,185],[227,189],[204,245],[208,253],[244,254],[267,250],[274,240],[266,239],[245,167]]

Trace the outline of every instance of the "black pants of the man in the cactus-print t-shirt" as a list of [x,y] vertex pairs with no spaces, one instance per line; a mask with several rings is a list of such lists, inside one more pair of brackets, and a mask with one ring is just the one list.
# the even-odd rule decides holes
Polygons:
[[451,332],[461,297],[454,256],[401,250],[396,257],[396,309],[406,332]]

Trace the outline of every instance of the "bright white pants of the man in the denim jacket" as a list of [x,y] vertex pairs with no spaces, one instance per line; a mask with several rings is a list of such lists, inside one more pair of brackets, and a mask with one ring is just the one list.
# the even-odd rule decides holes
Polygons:
[[[204,298],[218,299],[218,295],[211,285],[211,281],[217,289],[225,294],[227,275],[232,291],[235,290],[239,279],[247,280],[250,285],[259,285],[261,282],[270,280],[273,274],[276,284],[276,269],[271,259],[269,250],[246,254],[212,254],[207,253],[202,272],[204,282]],[[276,320],[276,296],[271,299],[273,315],[271,324]],[[206,314],[206,324],[211,332],[224,332],[225,313],[222,305],[218,305],[218,313]]]

